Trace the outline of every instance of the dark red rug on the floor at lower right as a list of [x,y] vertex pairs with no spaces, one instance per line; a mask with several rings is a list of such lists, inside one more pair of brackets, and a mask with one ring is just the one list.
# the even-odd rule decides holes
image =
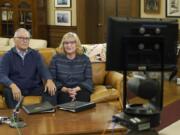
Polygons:
[[180,100],[177,100],[163,108],[161,123],[156,128],[158,131],[180,120]]

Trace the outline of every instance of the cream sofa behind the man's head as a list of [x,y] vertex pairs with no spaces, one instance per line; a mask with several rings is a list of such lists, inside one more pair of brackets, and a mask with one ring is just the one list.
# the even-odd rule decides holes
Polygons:
[[[14,46],[13,38],[0,37],[0,51],[8,51]],[[33,49],[47,47],[47,41],[42,39],[30,39],[29,46]]]

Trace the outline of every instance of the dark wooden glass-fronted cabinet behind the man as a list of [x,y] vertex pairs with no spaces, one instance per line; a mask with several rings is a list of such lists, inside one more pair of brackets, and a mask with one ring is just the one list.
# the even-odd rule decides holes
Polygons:
[[[32,38],[47,39],[47,0],[1,0],[0,1],[0,14],[4,10],[1,5],[4,3],[11,3],[13,7],[8,10],[13,11],[12,24],[5,20],[2,25],[2,18],[0,19],[0,36],[12,37],[16,29],[24,27],[31,31]],[[30,8],[18,8],[21,2],[26,2]],[[32,13],[32,23],[27,22],[27,15],[20,14],[20,11]],[[25,18],[26,17],[26,18]],[[20,20],[19,18],[24,18]],[[11,29],[12,28],[12,29]]]

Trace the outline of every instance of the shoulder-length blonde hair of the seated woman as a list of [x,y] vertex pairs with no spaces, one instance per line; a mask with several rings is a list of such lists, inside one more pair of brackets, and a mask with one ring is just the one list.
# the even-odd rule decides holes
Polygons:
[[81,46],[81,41],[79,37],[77,36],[77,34],[73,32],[68,32],[63,36],[61,43],[59,45],[59,48],[57,48],[57,52],[59,54],[66,54],[66,52],[64,51],[64,42],[70,39],[73,39],[76,41],[76,54],[79,54],[79,55],[83,54],[84,50],[83,50],[83,47]]

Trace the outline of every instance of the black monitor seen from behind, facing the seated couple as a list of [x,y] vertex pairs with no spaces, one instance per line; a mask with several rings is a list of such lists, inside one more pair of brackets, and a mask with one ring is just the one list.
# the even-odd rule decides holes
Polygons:
[[174,70],[178,39],[175,19],[110,17],[107,70]]

